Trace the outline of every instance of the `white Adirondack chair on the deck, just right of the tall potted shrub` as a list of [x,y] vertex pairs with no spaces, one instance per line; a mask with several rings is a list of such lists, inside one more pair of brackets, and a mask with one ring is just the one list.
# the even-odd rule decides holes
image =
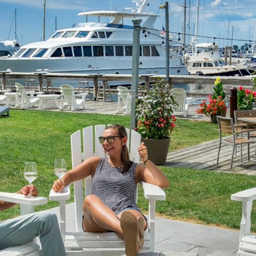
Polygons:
[[174,88],[172,90],[172,94],[178,103],[176,111],[183,111],[183,117],[186,117],[188,115],[189,102],[193,99],[193,97],[187,97],[186,90],[182,88]]

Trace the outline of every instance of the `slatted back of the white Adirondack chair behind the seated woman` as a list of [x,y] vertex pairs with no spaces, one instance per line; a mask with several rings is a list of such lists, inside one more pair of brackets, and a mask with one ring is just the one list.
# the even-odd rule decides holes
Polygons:
[[[93,129],[94,128],[94,129]],[[105,130],[105,125],[95,125],[86,127],[81,131],[77,131],[71,135],[71,154],[72,154],[72,167],[76,167],[83,160],[86,160],[92,156],[105,157],[104,149],[99,142],[98,137],[102,136]],[[141,143],[141,136],[135,131],[126,129],[127,132],[127,147],[130,148],[130,159],[139,163],[140,157],[137,148]],[[131,138],[131,141],[130,141]],[[82,141],[82,145],[81,145]],[[131,147],[129,145],[131,144]],[[83,148],[83,151],[81,150]],[[95,152],[94,152],[95,148]],[[74,198],[75,198],[75,220],[76,231],[82,232],[81,220],[82,220],[82,204],[85,196],[92,194],[92,178],[91,176],[84,179],[84,194],[83,194],[83,182],[74,182]],[[137,201],[137,195],[136,195]]]

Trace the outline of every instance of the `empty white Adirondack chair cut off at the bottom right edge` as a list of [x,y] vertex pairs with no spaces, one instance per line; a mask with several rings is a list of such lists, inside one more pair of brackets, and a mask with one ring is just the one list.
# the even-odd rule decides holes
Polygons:
[[256,199],[256,187],[231,195],[231,200],[242,202],[242,220],[238,256],[256,255],[256,236],[250,233],[252,201]]

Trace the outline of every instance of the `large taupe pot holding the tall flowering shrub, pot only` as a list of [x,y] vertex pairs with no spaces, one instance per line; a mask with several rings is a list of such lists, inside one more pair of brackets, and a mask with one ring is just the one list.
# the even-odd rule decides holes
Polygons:
[[155,139],[141,139],[147,147],[147,153],[150,160],[156,164],[165,164],[170,144],[170,138],[155,140]]

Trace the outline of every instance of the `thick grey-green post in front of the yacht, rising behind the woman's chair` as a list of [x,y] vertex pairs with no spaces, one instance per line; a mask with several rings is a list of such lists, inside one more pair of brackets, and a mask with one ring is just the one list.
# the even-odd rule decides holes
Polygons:
[[138,97],[139,85],[139,61],[140,61],[140,23],[141,19],[133,19],[133,59],[132,59],[132,105],[131,105],[131,129],[137,126],[135,107]]

